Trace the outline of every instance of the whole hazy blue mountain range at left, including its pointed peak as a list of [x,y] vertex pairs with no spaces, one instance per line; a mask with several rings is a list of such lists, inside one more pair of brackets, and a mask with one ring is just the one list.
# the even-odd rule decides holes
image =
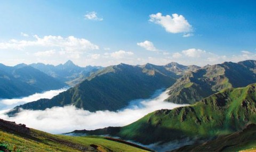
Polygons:
[[0,98],[20,98],[34,93],[61,89],[68,85],[74,86],[102,68],[79,67],[70,60],[58,66],[21,63],[11,67],[0,64]]

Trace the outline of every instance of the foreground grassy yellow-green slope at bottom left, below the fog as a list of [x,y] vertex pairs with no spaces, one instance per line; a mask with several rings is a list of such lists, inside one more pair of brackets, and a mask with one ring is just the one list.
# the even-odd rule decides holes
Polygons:
[[29,129],[0,119],[0,151],[148,151],[126,141],[104,137],[69,137]]

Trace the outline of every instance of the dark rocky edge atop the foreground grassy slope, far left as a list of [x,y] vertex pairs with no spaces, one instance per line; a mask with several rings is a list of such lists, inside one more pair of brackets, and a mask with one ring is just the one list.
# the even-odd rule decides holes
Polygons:
[[6,131],[14,131],[22,134],[29,134],[30,130],[25,124],[16,124],[15,122],[5,121],[0,119],[0,129],[5,129]]

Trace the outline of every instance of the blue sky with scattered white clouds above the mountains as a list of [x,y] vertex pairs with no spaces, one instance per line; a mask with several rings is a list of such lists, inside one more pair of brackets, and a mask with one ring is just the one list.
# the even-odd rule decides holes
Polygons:
[[79,66],[203,66],[256,59],[256,1],[0,2],[6,65],[70,59]]

